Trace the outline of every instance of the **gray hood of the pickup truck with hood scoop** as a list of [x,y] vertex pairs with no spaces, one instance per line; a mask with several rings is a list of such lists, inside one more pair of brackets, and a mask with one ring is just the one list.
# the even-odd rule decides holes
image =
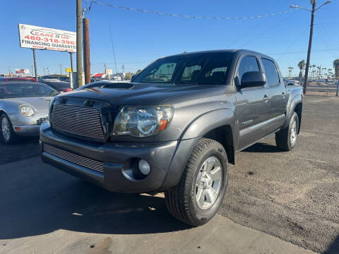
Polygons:
[[[117,85],[114,85],[117,84]],[[124,87],[126,85],[126,87]],[[208,97],[222,85],[173,85],[149,83],[113,83],[109,88],[92,87],[74,90],[58,97],[90,98],[114,105],[157,105],[171,104],[174,98],[192,96]],[[121,88],[122,87],[122,88]],[[213,89],[215,88],[215,89]],[[213,92],[214,91],[214,92]],[[182,98],[184,99],[184,98]]]

